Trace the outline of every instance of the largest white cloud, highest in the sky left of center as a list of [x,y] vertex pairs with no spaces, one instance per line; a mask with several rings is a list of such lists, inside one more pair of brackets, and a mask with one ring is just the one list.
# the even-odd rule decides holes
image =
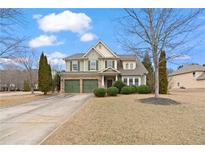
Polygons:
[[91,18],[85,13],[66,10],[59,14],[49,14],[38,19],[39,28],[44,32],[71,31],[85,33],[91,26]]

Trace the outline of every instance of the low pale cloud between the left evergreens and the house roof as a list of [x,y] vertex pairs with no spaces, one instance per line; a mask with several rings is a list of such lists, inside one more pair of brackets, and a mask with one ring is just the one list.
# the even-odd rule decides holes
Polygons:
[[66,55],[62,52],[55,51],[55,52],[46,54],[46,56],[48,58],[48,62],[51,65],[64,65],[65,64],[63,58],[65,58]]

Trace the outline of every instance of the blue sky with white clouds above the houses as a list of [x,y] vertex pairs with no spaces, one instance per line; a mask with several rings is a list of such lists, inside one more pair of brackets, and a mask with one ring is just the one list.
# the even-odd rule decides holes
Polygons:
[[[123,9],[23,9],[25,22],[16,33],[27,36],[26,44],[37,55],[43,51],[52,65],[64,65],[62,58],[86,52],[98,40],[118,54],[127,54],[117,41],[118,18]],[[200,43],[190,55],[176,59],[168,67],[176,69],[184,63],[205,64],[205,16],[200,29]],[[193,40],[194,41],[194,40]]]

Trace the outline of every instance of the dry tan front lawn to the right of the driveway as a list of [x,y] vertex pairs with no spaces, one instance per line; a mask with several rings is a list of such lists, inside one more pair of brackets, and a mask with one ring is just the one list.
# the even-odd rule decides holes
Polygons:
[[43,144],[205,144],[204,92],[163,96],[180,103],[171,105],[140,101],[151,94],[93,97]]

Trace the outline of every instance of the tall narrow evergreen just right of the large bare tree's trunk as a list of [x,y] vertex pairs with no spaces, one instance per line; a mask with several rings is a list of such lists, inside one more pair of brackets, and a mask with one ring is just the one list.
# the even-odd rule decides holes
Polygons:
[[165,51],[161,51],[159,57],[159,93],[167,94],[168,80],[167,80],[167,61]]

